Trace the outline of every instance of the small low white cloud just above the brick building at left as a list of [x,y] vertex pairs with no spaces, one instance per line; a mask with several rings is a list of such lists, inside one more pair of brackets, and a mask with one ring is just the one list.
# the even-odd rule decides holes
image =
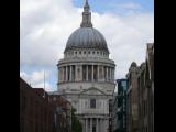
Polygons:
[[[20,76],[33,88],[44,88],[44,70],[34,70],[32,73],[20,72]],[[53,91],[52,84],[47,81],[50,72],[45,72],[45,90]]]

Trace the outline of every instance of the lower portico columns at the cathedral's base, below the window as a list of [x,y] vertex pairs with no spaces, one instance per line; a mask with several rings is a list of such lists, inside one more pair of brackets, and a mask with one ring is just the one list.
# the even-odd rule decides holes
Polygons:
[[85,118],[82,122],[84,132],[103,132],[103,121],[105,119],[100,118]]

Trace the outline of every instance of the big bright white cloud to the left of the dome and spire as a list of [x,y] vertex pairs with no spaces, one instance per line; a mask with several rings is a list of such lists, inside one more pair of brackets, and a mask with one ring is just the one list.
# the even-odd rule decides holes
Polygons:
[[79,18],[74,13],[78,9],[69,0],[22,0],[20,8],[21,65],[56,64],[69,33],[78,26],[73,21]]

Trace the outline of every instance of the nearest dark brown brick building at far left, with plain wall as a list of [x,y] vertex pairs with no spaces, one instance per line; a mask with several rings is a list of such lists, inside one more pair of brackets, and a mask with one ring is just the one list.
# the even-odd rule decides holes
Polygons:
[[20,132],[56,132],[55,109],[48,103],[48,95],[43,97],[44,92],[32,88],[20,78]]

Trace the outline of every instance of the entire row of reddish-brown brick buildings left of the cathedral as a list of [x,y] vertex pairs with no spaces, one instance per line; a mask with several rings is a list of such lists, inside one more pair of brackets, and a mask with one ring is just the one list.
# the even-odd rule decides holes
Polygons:
[[20,78],[20,132],[70,132],[69,109],[65,98],[55,100]]

